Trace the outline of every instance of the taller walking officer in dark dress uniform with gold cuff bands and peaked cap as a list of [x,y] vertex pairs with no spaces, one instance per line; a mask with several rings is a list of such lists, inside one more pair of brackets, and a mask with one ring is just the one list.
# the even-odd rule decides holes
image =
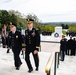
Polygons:
[[35,70],[38,71],[39,68],[38,51],[40,46],[40,34],[38,30],[33,27],[33,19],[26,19],[26,21],[28,24],[28,29],[25,31],[25,61],[29,69],[28,72],[31,73],[33,71],[33,67],[30,62],[30,53],[32,53],[35,61]]

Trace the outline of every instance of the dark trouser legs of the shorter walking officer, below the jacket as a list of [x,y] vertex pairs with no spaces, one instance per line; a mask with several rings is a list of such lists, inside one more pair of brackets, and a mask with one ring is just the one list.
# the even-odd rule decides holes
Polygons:
[[22,64],[21,59],[19,57],[20,51],[13,51],[13,54],[15,67],[19,67]]

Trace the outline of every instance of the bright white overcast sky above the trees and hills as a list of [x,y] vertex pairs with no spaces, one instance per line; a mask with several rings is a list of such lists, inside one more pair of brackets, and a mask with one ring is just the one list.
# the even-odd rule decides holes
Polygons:
[[76,0],[0,0],[0,9],[35,14],[41,22],[76,22]]

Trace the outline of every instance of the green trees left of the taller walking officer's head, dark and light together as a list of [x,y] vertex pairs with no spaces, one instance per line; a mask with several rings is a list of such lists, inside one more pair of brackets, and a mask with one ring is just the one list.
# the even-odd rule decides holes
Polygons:
[[[3,24],[10,25],[10,22],[15,23],[17,27],[26,28],[26,19],[22,17],[21,13],[14,10],[0,10],[0,27],[2,28]],[[0,28],[0,29],[1,29]]]

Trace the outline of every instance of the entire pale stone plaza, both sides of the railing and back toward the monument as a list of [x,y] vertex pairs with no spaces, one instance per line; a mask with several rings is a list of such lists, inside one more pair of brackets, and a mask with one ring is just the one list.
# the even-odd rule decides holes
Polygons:
[[[53,41],[59,42],[60,38],[53,38],[52,36],[42,36],[42,41]],[[60,43],[46,43],[41,42],[41,50],[39,52],[39,71],[35,71],[35,65],[32,55],[31,56],[31,63],[33,65],[34,71],[32,73],[28,73],[28,68],[23,59],[23,56],[20,54],[21,60],[23,64],[20,67],[20,70],[15,70],[14,67],[14,60],[12,50],[10,53],[6,53],[7,48],[0,47],[0,75],[47,75],[45,73],[45,67],[49,56],[53,51],[57,51],[60,49]],[[53,74],[54,67],[52,68]],[[57,68],[56,75],[76,75],[76,56],[65,56],[65,61],[60,61],[59,68]]]

